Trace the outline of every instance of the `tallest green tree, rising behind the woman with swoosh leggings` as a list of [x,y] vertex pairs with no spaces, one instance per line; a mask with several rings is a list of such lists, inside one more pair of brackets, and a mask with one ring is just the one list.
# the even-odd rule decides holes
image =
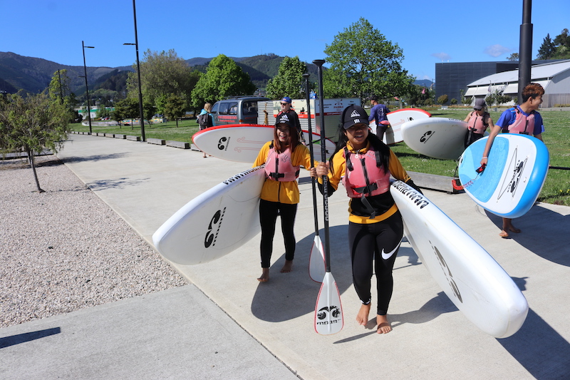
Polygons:
[[323,73],[326,97],[356,97],[364,102],[370,95],[378,98],[400,96],[414,78],[403,70],[403,51],[388,41],[366,19],[337,34],[324,51],[331,67]]

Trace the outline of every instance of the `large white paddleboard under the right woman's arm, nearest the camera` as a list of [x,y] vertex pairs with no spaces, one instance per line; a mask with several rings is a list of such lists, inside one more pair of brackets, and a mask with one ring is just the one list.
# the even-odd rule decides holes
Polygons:
[[475,326],[510,337],[527,318],[527,299],[509,274],[425,196],[401,181],[390,186],[408,242],[435,282]]

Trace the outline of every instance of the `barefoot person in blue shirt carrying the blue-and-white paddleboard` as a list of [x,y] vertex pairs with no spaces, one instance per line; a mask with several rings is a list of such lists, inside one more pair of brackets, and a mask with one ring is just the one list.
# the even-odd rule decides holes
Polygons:
[[[487,140],[487,144],[483,150],[481,165],[487,165],[489,151],[493,145],[493,140],[501,130],[508,133],[533,135],[535,138],[542,141],[544,125],[542,123],[542,116],[537,112],[537,110],[542,103],[543,95],[544,88],[542,88],[539,83],[529,83],[524,87],[522,91],[522,103],[520,103],[519,106],[503,111],[499,120],[497,120],[497,125],[494,125],[489,133],[489,139]],[[509,237],[509,232],[521,232],[521,230],[512,225],[512,219],[504,217],[502,224],[502,230],[499,233],[500,237]]]

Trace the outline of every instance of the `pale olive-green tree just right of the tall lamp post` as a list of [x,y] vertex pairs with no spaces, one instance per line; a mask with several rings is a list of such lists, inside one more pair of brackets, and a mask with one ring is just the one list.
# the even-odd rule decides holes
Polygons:
[[[134,73],[127,79],[128,97],[138,99],[137,66],[133,64]],[[174,49],[169,51],[150,51],[144,53],[140,61],[141,91],[150,103],[160,96],[171,93],[180,96],[190,104],[192,89],[196,85],[199,73],[192,70],[183,58],[177,56]]]

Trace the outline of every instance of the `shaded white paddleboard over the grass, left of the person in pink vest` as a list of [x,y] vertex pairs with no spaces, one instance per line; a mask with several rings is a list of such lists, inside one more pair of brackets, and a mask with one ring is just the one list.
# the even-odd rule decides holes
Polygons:
[[404,143],[427,157],[457,160],[465,150],[467,123],[450,118],[425,118],[402,125]]

